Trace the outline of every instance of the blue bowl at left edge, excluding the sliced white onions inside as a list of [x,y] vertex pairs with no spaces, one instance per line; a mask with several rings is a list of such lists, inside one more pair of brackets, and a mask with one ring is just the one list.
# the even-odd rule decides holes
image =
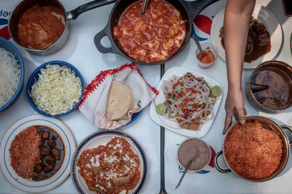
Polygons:
[[4,111],[5,109],[8,109],[10,106],[16,102],[16,100],[19,98],[22,88],[23,88],[23,82],[24,82],[24,65],[23,65],[23,60],[22,57],[19,53],[19,51],[16,49],[16,47],[6,40],[5,38],[2,38],[0,36],[0,48],[5,49],[6,51],[9,51],[14,55],[15,59],[19,61],[20,69],[21,69],[21,75],[20,75],[20,81],[18,88],[16,89],[15,94],[12,96],[12,98],[2,107],[0,107],[0,112]]

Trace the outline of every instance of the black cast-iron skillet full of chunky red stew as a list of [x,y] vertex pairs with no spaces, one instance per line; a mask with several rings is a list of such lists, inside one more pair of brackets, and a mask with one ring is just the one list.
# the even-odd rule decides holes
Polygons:
[[[102,53],[117,53],[142,65],[168,62],[189,42],[196,15],[216,1],[149,0],[141,16],[141,0],[119,0],[106,27],[96,34],[95,45]],[[108,36],[111,48],[101,45],[104,36]]]

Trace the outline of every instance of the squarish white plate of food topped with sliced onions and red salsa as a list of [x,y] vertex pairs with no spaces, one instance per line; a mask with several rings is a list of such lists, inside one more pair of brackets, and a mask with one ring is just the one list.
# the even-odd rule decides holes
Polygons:
[[[218,82],[200,73],[181,67],[170,68],[157,87],[159,94],[151,102],[152,120],[182,135],[203,137],[210,129],[221,102],[221,93],[218,97],[211,94],[213,86],[221,88]],[[167,101],[165,93],[169,95]],[[166,104],[166,112],[158,114],[156,107],[163,103]]]

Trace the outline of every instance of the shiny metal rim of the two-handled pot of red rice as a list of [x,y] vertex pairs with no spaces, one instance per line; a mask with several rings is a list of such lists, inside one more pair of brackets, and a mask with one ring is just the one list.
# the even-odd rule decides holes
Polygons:
[[[288,138],[287,138],[287,135],[286,135],[286,133],[283,131],[283,129],[280,127],[280,125],[278,125],[276,122],[274,122],[273,120],[271,120],[271,119],[269,119],[269,118],[267,118],[267,117],[264,117],[264,116],[259,116],[259,115],[250,115],[250,116],[247,116],[247,117],[245,117],[246,119],[252,119],[252,118],[260,118],[260,119],[265,119],[266,121],[268,121],[268,122],[270,122],[271,124],[273,124],[277,129],[279,129],[281,132],[283,132],[283,135],[284,135],[284,138],[286,139],[286,142],[287,142],[287,157],[285,158],[285,163],[284,163],[284,165],[281,167],[281,169],[276,173],[276,174],[272,174],[272,175],[270,175],[269,177],[267,177],[267,178],[265,178],[265,179],[258,179],[258,180],[256,180],[256,179],[247,179],[247,178],[244,178],[244,177],[242,177],[242,176],[240,176],[240,175],[238,175],[232,168],[231,168],[231,166],[228,164],[228,162],[227,162],[227,159],[226,159],[226,157],[225,157],[225,151],[224,151],[224,143],[225,143],[225,140],[226,140],[226,137],[227,137],[227,135],[228,135],[228,133],[230,132],[230,130],[231,129],[233,129],[233,127],[236,125],[236,124],[238,124],[240,121],[236,121],[235,123],[233,123],[230,127],[229,127],[229,129],[227,130],[227,132],[226,132],[226,134],[225,134],[225,136],[224,136],[224,139],[223,139],[223,143],[222,143],[222,155],[223,155],[223,158],[224,158],[224,162],[226,163],[226,165],[228,166],[228,168],[231,170],[231,172],[233,172],[236,176],[238,176],[239,178],[241,178],[241,179],[244,179],[244,180],[246,180],[246,181],[249,181],[249,182],[264,182],[264,181],[268,181],[268,180],[271,180],[271,179],[273,179],[273,178],[275,178],[278,174],[280,174],[280,172],[282,172],[283,171],[283,169],[285,168],[285,166],[287,165],[287,162],[288,162],[288,160],[289,160],[289,156],[290,156],[290,145],[289,145],[289,140],[288,140]],[[285,145],[283,145],[283,146],[285,146]],[[283,159],[283,158],[282,158]]]

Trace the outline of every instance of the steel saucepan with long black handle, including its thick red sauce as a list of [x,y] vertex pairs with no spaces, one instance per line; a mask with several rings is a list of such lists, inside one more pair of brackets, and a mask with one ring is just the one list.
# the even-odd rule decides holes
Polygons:
[[66,12],[59,0],[20,0],[12,9],[8,29],[20,47],[35,55],[50,55],[66,44],[70,23],[83,12],[117,0],[96,0]]

